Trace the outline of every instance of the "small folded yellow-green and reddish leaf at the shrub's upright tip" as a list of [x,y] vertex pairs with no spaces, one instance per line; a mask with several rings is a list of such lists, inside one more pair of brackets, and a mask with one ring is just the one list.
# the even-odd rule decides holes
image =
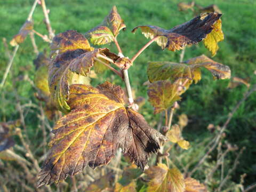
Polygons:
[[94,45],[103,45],[113,42],[121,29],[125,30],[125,24],[117,12],[116,6],[113,6],[103,22],[86,32],[85,36],[90,39]]

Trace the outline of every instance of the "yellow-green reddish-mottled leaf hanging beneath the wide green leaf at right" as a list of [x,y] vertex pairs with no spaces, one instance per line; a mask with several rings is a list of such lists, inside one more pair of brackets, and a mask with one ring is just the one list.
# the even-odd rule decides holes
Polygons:
[[148,86],[148,97],[151,105],[154,106],[154,113],[160,113],[181,99],[179,84],[170,81],[156,81]]

